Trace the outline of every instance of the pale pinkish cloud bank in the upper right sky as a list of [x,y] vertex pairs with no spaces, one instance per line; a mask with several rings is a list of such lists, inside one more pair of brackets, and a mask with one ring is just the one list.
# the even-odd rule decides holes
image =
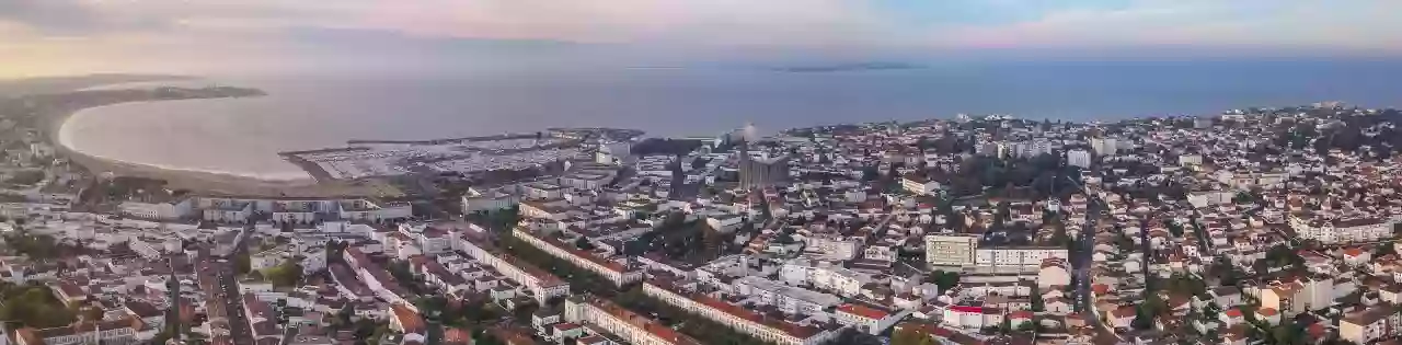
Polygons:
[[1398,49],[1399,1],[1140,0],[997,27],[965,27],[955,46]]

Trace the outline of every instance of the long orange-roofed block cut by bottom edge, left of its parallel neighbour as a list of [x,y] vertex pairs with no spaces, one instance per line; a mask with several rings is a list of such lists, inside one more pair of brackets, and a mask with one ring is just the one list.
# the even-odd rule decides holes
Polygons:
[[646,316],[587,295],[565,300],[565,321],[596,325],[637,345],[701,344]]

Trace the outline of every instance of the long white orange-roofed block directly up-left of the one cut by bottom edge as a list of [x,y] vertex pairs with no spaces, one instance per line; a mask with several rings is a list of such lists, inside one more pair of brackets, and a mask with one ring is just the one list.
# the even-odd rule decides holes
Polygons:
[[463,251],[482,265],[495,268],[508,279],[526,286],[527,290],[536,295],[536,300],[541,304],[552,297],[569,295],[568,282],[561,280],[558,276],[554,276],[544,269],[517,259],[516,257],[502,252],[491,243],[486,243],[485,238],[478,238],[477,236],[478,234],[463,233],[458,236],[458,241],[456,241],[453,250]]

